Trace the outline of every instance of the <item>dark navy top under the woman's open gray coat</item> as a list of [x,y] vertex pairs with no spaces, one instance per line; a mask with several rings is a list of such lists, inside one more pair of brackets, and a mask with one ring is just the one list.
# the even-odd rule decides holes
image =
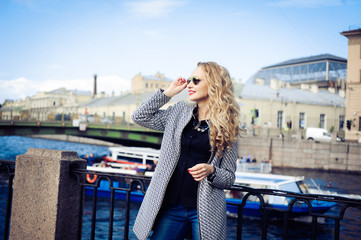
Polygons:
[[[192,117],[183,130],[181,154],[176,169],[168,183],[163,206],[197,207],[198,182],[188,172],[188,168],[199,163],[207,163],[211,157],[211,145],[208,129],[204,132],[194,129],[198,122]],[[201,128],[207,128],[207,122],[201,121]]]

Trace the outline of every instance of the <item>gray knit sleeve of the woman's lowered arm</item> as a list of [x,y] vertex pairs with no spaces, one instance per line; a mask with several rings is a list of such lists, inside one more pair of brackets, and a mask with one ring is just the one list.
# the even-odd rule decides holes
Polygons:
[[235,171],[237,168],[237,155],[238,155],[238,141],[226,149],[221,159],[220,166],[214,166],[216,169],[216,176],[210,184],[213,187],[224,189],[233,185],[235,180]]

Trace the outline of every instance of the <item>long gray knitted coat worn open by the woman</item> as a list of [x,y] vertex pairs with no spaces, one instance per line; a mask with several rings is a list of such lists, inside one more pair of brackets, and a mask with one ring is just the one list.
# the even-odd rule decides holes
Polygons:
[[[179,102],[167,110],[159,110],[170,100],[161,90],[133,113],[132,119],[141,126],[164,131],[159,162],[144,196],[134,223],[138,239],[147,239],[153,228],[168,182],[180,156],[181,136],[190,121],[194,106]],[[236,170],[237,143],[224,152],[223,158],[212,154],[209,163],[216,168],[212,182],[199,182],[197,208],[201,239],[226,239],[226,198],[223,189],[232,186]]]

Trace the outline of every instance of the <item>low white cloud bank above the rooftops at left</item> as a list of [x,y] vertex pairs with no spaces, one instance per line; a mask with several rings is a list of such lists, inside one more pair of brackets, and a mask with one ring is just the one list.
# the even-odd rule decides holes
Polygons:
[[[27,78],[17,78],[12,80],[1,80],[0,82],[0,103],[5,99],[25,99],[35,95],[37,92],[52,91],[58,88],[68,90],[81,90],[93,92],[94,79],[70,79],[45,81],[34,81]],[[97,77],[97,92],[105,92],[107,95],[114,94],[117,96],[121,92],[130,91],[131,81],[125,78],[110,75]]]

